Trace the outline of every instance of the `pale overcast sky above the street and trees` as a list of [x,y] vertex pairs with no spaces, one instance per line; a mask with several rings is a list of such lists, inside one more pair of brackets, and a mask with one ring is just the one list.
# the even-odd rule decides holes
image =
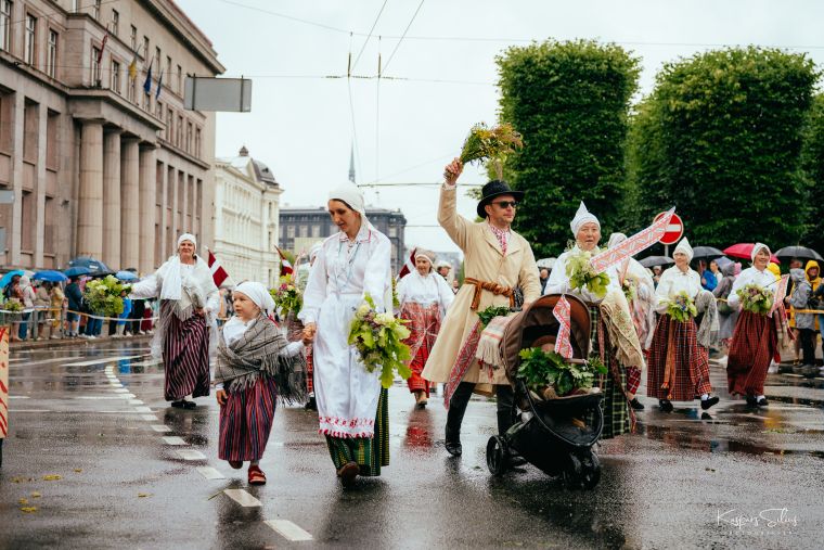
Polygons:
[[[177,2],[213,41],[224,76],[254,81],[252,113],[217,115],[217,156],[245,144],[285,190],[281,206],[321,206],[347,180],[355,144],[359,184],[417,183],[369,188],[366,201],[401,208],[407,244],[436,251],[458,248],[437,227],[438,188],[423,183],[440,180],[473,124],[495,121],[494,57],[510,46],[617,42],[641,57],[643,94],[664,63],[723,44],[788,48],[824,66],[816,0]],[[374,77],[379,52],[383,76],[396,79],[345,78],[350,52],[352,75]],[[485,178],[469,168],[461,181]],[[459,210],[473,217],[475,202],[462,199]]]

